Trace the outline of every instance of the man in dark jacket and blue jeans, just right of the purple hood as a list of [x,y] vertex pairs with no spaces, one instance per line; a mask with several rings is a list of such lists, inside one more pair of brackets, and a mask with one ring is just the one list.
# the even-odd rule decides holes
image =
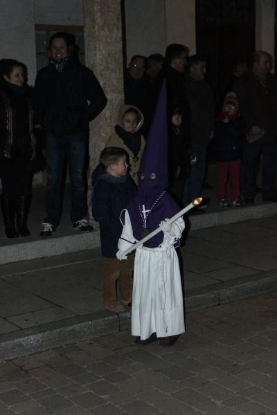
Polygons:
[[[206,62],[204,57],[192,55],[188,58],[188,77],[186,92],[190,104],[190,152],[197,156],[198,161],[191,168],[186,180],[183,203],[188,205],[192,199],[200,196],[206,173],[206,156],[209,140],[212,136],[215,118],[215,102],[211,86],[204,80]],[[202,212],[197,211],[197,212]]]

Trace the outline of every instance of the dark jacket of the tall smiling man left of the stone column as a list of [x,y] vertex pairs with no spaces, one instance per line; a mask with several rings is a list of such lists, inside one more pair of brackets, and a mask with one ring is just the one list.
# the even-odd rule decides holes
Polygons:
[[35,123],[53,133],[89,131],[107,103],[93,72],[71,57],[61,72],[50,63],[37,73],[35,99]]

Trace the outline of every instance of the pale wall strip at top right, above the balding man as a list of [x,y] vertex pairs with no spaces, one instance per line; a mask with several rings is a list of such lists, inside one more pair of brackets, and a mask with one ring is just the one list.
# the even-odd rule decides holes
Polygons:
[[256,50],[274,57],[274,0],[256,0]]

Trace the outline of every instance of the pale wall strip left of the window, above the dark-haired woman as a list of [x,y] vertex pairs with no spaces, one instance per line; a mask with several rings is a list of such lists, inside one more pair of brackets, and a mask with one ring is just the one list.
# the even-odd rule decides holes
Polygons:
[[29,84],[35,82],[35,8],[33,0],[2,0],[0,58],[17,59],[28,67]]

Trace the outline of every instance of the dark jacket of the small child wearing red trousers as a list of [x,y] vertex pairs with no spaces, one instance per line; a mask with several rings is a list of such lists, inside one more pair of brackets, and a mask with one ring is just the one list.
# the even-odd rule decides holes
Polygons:
[[217,161],[241,160],[244,147],[245,123],[242,117],[215,122],[215,151]]

